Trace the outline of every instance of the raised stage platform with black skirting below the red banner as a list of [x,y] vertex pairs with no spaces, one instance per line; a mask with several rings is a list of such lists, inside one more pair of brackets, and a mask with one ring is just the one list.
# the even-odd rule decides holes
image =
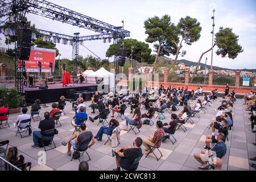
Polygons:
[[[97,90],[97,84],[71,84],[71,86],[62,86],[62,84],[50,84],[47,90],[37,88],[24,87],[24,93],[27,104],[33,104],[36,99],[39,99],[41,103],[57,102],[60,100],[60,96],[68,97],[68,90],[74,89],[75,92],[81,92],[95,88]],[[71,97],[72,98],[72,97]]]

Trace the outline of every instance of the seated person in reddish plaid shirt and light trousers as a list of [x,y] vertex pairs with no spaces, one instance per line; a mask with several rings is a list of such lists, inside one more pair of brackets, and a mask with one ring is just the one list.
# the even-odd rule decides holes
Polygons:
[[162,129],[163,127],[163,123],[162,121],[157,121],[156,122],[156,131],[154,133],[154,136],[148,137],[148,139],[143,139],[143,146],[145,146],[145,154],[148,154],[150,152],[150,147],[154,147],[156,145],[156,147],[160,147],[162,140],[160,140],[161,138],[164,137],[164,130]]

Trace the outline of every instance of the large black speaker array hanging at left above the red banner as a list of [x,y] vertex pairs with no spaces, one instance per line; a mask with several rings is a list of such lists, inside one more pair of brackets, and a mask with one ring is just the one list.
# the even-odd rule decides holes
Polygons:
[[18,29],[18,58],[28,60],[30,58],[32,31],[28,28]]

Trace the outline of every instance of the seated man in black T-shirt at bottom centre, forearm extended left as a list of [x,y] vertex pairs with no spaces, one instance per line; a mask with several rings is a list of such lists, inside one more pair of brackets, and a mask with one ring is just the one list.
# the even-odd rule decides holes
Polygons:
[[[112,150],[112,155],[113,157],[116,156],[115,162],[117,163],[117,168],[113,169],[113,171],[120,171],[120,167],[126,170],[129,169],[134,160],[142,156],[141,145],[142,139],[137,137],[133,142],[133,146],[125,146],[115,151]],[[134,166],[130,171],[136,170],[138,165]]]

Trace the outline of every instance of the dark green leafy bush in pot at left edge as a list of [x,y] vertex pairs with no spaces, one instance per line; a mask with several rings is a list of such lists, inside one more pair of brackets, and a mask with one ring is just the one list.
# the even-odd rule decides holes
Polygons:
[[16,88],[11,89],[0,89],[0,99],[3,101],[3,104],[9,109],[10,114],[15,114],[20,112],[20,104],[24,99],[23,96],[20,96]]

